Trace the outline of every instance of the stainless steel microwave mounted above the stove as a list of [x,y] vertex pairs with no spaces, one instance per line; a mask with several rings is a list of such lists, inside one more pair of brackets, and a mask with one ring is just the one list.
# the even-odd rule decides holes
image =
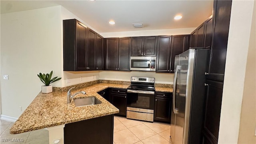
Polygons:
[[130,70],[156,71],[156,57],[131,56]]

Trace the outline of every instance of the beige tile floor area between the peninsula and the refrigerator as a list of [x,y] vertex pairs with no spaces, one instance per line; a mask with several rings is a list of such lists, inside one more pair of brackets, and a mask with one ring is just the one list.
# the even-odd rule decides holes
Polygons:
[[114,144],[171,144],[170,124],[115,116]]

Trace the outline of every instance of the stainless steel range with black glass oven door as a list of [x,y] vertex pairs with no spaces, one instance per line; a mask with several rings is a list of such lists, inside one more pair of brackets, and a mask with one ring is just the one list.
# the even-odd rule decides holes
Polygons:
[[127,88],[126,118],[153,122],[155,78],[131,77]]

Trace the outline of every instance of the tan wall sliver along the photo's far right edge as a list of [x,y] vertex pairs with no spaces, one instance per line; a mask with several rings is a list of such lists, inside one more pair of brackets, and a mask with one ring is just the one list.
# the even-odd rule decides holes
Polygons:
[[238,143],[256,144],[256,2],[252,15],[252,26],[240,119]]

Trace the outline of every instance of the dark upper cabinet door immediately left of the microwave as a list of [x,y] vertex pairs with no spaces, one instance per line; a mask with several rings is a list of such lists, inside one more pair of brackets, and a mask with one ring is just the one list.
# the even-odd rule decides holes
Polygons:
[[117,70],[130,71],[130,48],[132,38],[118,38]]

